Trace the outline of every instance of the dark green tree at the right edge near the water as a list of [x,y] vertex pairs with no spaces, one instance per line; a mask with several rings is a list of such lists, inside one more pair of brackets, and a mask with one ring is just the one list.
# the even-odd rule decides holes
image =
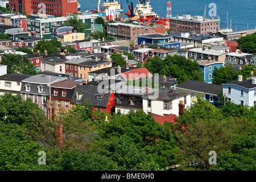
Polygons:
[[242,52],[253,53],[256,55],[256,33],[242,36],[237,42],[237,49],[241,49]]

